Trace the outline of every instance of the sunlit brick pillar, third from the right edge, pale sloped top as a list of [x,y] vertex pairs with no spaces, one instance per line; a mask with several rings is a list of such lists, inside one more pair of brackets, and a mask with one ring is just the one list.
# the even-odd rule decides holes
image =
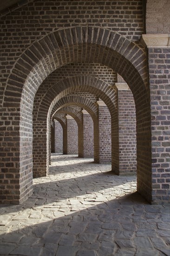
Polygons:
[[[111,115],[103,101],[98,102],[98,124],[94,128],[94,139],[98,139],[95,162],[111,162]],[[98,129],[98,131],[97,131]]]

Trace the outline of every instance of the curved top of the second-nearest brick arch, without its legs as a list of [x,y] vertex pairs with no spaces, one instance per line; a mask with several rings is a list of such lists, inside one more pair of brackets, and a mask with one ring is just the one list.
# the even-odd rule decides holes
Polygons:
[[52,109],[56,102],[63,96],[72,92],[90,92],[101,98],[108,106],[110,113],[114,115],[117,109],[117,91],[105,81],[94,76],[72,76],[59,81],[50,88],[41,99],[37,112],[37,119],[47,118],[49,108]]

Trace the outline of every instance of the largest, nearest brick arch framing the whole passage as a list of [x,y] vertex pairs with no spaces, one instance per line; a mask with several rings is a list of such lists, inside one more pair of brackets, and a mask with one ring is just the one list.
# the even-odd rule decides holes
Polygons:
[[[151,202],[150,95],[146,60],[144,49],[120,34],[101,27],[63,28],[35,41],[16,61],[7,79],[3,98],[3,107],[10,112],[10,125],[15,130],[12,131],[13,136],[20,136],[20,142],[18,139],[14,141],[20,157],[32,149],[33,100],[48,74],[71,62],[107,65],[123,77],[134,95],[137,113],[137,186],[139,193]],[[26,120],[20,118],[13,126],[11,116],[25,116]],[[32,155],[26,160],[18,158],[13,164],[19,166],[19,162],[16,173],[20,175],[16,183],[20,186],[20,195],[13,199],[15,202],[23,202],[32,194]]]

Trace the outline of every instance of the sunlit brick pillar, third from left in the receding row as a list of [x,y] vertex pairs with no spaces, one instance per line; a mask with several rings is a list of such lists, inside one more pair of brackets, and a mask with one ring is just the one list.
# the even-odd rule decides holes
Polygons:
[[93,133],[93,121],[91,115],[82,110],[83,113],[83,135],[84,135],[84,157],[94,155],[94,133]]

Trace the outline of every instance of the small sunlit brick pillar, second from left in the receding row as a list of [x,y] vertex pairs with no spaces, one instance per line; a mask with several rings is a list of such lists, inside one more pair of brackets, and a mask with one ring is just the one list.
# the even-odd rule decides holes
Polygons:
[[66,115],[67,119],[67,154],[78,154],[78,125],[74,118]]

